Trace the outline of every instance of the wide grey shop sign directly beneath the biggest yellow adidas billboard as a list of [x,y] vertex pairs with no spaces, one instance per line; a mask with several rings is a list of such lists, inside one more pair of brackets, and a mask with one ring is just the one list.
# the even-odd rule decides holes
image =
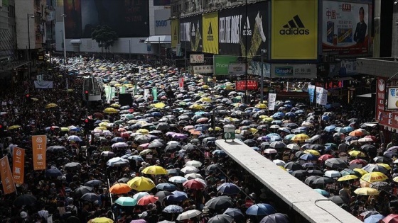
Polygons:
[[271,64],[271,78],[316,79],[316,64]]

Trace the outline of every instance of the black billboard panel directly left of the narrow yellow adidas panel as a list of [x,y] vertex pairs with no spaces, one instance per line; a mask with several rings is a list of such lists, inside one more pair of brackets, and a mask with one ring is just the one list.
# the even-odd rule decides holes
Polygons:
[[181,47],[188,51],[202,52],[202,17],[200,15],[180,18]]

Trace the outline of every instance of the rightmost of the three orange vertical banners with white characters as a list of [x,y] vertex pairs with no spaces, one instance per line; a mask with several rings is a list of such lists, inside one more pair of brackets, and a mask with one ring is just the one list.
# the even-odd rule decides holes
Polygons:
[[47,136],[33,135],[32,136],[33,149],[33,169],[35,171],[45,170],[45,150],[47,149]]

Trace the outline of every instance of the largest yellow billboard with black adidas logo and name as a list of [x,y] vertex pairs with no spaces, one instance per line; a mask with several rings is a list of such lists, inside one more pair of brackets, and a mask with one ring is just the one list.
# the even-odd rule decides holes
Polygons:
[[318,58],[318,1],[271,1],[271,59]]

